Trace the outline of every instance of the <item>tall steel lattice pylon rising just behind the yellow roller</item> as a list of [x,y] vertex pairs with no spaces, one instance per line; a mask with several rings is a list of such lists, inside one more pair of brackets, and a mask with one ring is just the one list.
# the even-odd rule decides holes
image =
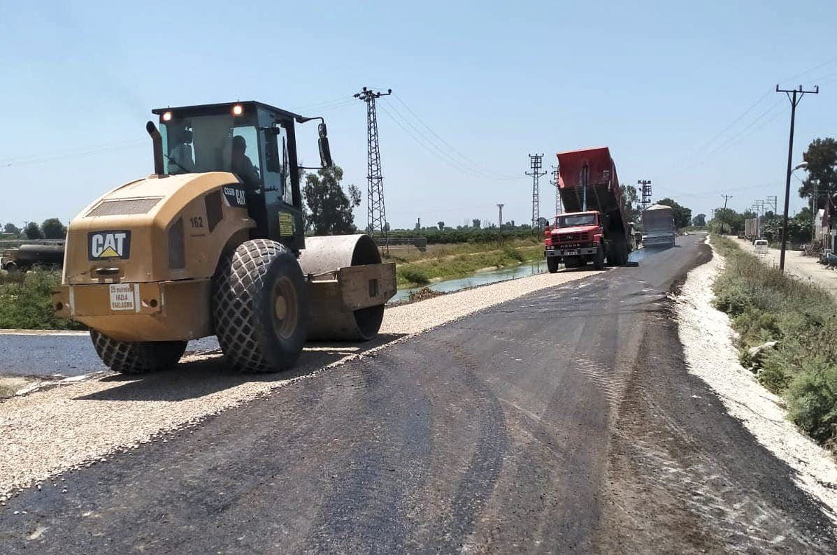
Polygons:
[[393,94],[392,89],[386,93],[368,90],[363,87],[355,93],[357,100],[367,105],[367,229],[372,239],[379,242],[383,239],[382,250],[384,256],[389,254],[389,231],[387,228],[387,211],[383,204],[383,175],[381,174],[381,146],[377,136],[377,112],[375,100],[382,96]]

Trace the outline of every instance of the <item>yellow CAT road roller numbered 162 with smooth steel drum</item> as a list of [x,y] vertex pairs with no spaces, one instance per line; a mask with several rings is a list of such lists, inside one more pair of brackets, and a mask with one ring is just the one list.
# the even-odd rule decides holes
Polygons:
[[[331,166],[325,122],[260,102],[153,110],[155,171],[69,224],[59,316],[90,327],[111,369],[170,367],[218,336],[249,372],[292,366],[306,339],[372,339],[396,290],[367,235],[306,238],[300,176]],[[295,124],[319,120],[321,167],[300,167]]]

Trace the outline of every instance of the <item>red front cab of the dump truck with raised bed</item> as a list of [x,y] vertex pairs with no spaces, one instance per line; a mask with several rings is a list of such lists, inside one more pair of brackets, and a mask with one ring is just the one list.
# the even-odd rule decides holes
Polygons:
[[603,214],[596,210],[557,214],[544,233],[549,271],[555,273],[561,263],[566,268],[578,268],[593,262],[597,270],[603,268],[605,224]]

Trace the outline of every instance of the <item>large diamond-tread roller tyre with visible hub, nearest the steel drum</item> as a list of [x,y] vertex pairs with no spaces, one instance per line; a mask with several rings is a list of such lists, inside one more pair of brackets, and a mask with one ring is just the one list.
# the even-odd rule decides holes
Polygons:
[[308,335],[306,281],[294,254],[253,239],[224,257],[213,277],[215,334],[242,372],[292,367]]

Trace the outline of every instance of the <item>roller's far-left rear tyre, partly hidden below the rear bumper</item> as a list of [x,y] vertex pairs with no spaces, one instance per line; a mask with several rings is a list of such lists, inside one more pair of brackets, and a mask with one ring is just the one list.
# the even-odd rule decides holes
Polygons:
[[95,330],[90,330],[90,339],[105,366],[123,374],[143,374],[171,368],[186,351],[185,341],[116,341]]

